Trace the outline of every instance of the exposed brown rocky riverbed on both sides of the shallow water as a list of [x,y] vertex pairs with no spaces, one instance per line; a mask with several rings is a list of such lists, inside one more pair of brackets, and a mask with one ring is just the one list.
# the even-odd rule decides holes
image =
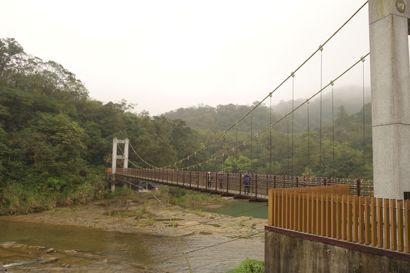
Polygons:
[[[223,205],[223,201],[214,206],[220,205]],[[206,243],[198,245],[219,243],[230,238],[249,235],[253,236],[247,241],[253,241],[260,245],[263,242],[263,229],[267,224],[265,219],[234,218],[198,210],[182,209],[167,202],[160,204],[148,193],[128,199],[98,200],[85,205],[60,207],[42,213],[2,216],[0,223],[2,221],[74,225],[108,232],[148,234],[167,238],[175,237],[177,233],[182,238],[196,236],[196,241],[200,241],[200,238],[207,238],[204,241]],[[190,249],[189,245],[184,247],[186,250]],[[16,241],[0,243],[0,261],[8,265],[9,271],[13,272],[23,272],[27,268],[33,271],[43,270],[44,272],[112,272],[113,270],[152,272],[156,268],[149,263],[125,263],[124,260],[120,259],[107,259],[98,250],[60,249],[56,247],[50,249],[41,245],[30,245]],[[170,269],[169,272],[174,271]]]

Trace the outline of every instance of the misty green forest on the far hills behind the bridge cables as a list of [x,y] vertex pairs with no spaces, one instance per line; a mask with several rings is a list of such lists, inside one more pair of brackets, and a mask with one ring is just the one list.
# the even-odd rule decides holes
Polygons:
[[[302,101],[296,101],[295,106]],[[332,114],[331,102],[329,96],[324,96],[320,130],[320,100],[311,101],[309,135],[308,104],[295,111],[293,119],[292,114],[286,117],[286,110],[292,110],[291,101],[277,104],[272,110],[272,124],[284,118],[273,125],[272,134],[269,131],[271,110],[262,104],[224,137],[200,152],[198,155],[209,161],[196,167],[196,170],[372,179],[371,104],[367,103],[363,108],[362,102],[361,108],[358,106],[358,111],[352,114],[343,106],[335,107]],[[256,104],[258,102],[254,102],[251,107]],[[219,105],[216,108],[199,105],[180,108],[165,116],[185,120],[198,131],[200,142],[207,144],[249,110],[250,106],[235,104]],[[268,130],[255,137],[265,129]],[[252,136],[255,137],[252,141],[241,145]],[[233,151],[238,145],[238,149]],[[218,158],[214,160],[215,157]],[[190,160],[195,159],[196,156],[193,156]],[[185,167],[186,164],[183,162],[177,164],[177,167]]]

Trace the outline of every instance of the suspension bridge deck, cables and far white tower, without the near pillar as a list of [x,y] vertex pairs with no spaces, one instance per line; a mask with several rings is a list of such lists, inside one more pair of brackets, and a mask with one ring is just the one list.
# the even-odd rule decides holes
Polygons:
[[[115,191],[115,177],[124,177],[126,179],[139,179],[139,180],[146,180],[158,183],[165,183],[165,184],[172,184],[172,185],[179,185],[185,186],[193,189],[198,189],[201,191],[209,191],[209,192],[217,192],[220,194],[227,194],[233,196],[240,196],[249,199],[257,199],[257,200],[267,200],[268,196],[268,189],[269,188],[277,188],[277,187],[304,187],[304,186],[323,186],[323,185],[338,185],[338,184],[349,184],[351,185],[351,192],[355,195],[365,195],[365,196],[373,196],[373,180],[365,179],[365,117],[364,117],[364,61],[368,57],[370,53],[363,52],[363,54],[358,54],[358,57],[353,64],[349,67],[340,69],[340,74],[335,75],[334,78],[328,82],[327,84],[323,84],[322,82],[322,59],[323,59],[323,51],[326,48],[326,44],[338,34],[338,32],[347,25],[354,16],[362,10],[367,4],[364,3],[350,18],[344,22],[339,29],[337,29],[329,38],[327,38],[317,49],[313,51],[313,53],[303,60],[301,64],[290,73],[289,76],[283,79],[283,81],[272,91],[270,91],[264,98],[262,98],[256,105],[254,105],[248,113],[244,116],[240,117],[236,122],[234,122],[229,128],[221,132],[219,135],[216,135],[212,141],[203,145],[197,151],[193,151],[188,154],[186,157],[179,159],[178,161],[172,162],[166,166],[156,166],[154,162],[147,162],[147,160],[141,158],[138,152],[133,148],[131,143],[129,143],[128,139],[118,140],[116,138],[113,139],[113,149],[112,149],[112,167],[110,169],[106,169],[107,173],[109,173],[111,188]],[[295,105],[294,99],[294,81],[295,78],[297,79],[297,74],[299,70],[306,65],[312,58],[320,54],[320,75],[318,75],[318,79],[320,78],[320,88],[318,90],[313,91],[312,94],[302,103],[299,105]],[[334,177],[335,175],[335,110],[334,110],[334,86],[347,73],[353,73],[352,69],[361,66],[361,77],[362,77],[362,97],[363,97],[363,117],[362,117],[362,153],[363,153],[363,160],[362,160],[362,169],[363,174],[362,177],[353,177],[353,178],[337,178]],[[274,118],[272,115],[273,107],[272,107],[272,99],[275,96],[275,92],[277,92],[286,82],[292,83],[292,109],[290,111],[278,118]],[[323,123],[322,123],[322,93],[324,91],[331,91],[332,92],[332,159],[331,165],[333,169],[333,177],[322,177],[324,174],[324,164],[326,163],[329,165],[329,158],[324,158],[324,146],[323,146]],[[309,102],[313,99],[320,100],[320,124],[318,129],[319,134],[319,151],[314,151],[313,143],[312,143],[312,125],[310,124],[312,121],[310,120],[309,111],[310,104]],[[255,132],[254,124],[255,120],[253,117],[253,113],[257,110],[258,107],[261,107],[263,103],[267,103],[269,101],[270,105],[270,116],[269,116],[269,124],[266,127],[259,131]],[[306,159],[304,160],[305,166],[304,168],[307,170],[308,175],[296,174],[294,169],[296,160],[294,157],[295,152],[295,137],[294,137],[294,113],[295,111],[305,111],[304,115],[306,117],[306,140],[303,142],[302,147],[299,149],[304,150],[306,154]],[[280,122],[286,122],[287,127],[287,160],[288,160],[288,173],[272,173],[273,169],[273,155],[276,151],[273,150],[273,139],[272,131],[280,124]],[[249,124],[247,123],[249,122]],[[249,137],[247,139],[238,139],[238,126],[240,124],[247,123],[249,125],[250,131],[247,133]],[[235,144],[233,146],[226,145],[226,137],[230,136],[231,138],[235,138]],[[269,136],[269,155],[261,155],[258,151],[258,139],[261,137]],[[121,148],[120,144],[124,144],[123,148]],[[132,157],[136,158],[136,160],[130,160],[129,156],[129,147],[132,148]],[[217,148],[215,148],[217,146]],[[117,150],[120,150],[120,155],[117,155]],[[141,149],[144,149],[141,147]],[[239,162],[241,154],[245,157],[245,151],[247,152],[247,156],[250,158],[250,166],[249,170],[241,170],[242,173],[239,172]],[[208,158],[204,158],[208,156]],[[318,157],[318,160],[315,158]],[[234,173],[224,172],[225,169],[225,162],[228,157],[234,158],[233,170],[236,171]],[[265,169],[269,169],[269,171],[258,174],[258,162],[259,160],[264,157],[265,161],[269,162],[269,166]],[[269,157],[269,158],[267,158]],[[122,160],[122,168],[117,168],[117,160]],[[313,161],[318,162],[318,177],[311,176],[310,172],[312,168]],[[255,162],[256,161],[256,162]],[[190,164],[191,162],[191,164]],[[192,163],[194,162],[194,163]],[[134,169],[129,169],[128,165],[132,164]],[[218,165],[221,167],[221,171],[223,172],[221,175],[218,175],[218,172],[214,172],[215,166]],[[211,172],[210,177],[207,177],[207,172]],[[250,194],[244,194],[244,181],[246,180],[244,177],[244,173],[249,171],[250,177],[250,187],[251,191]],[[210,180],[210,181],[207,181]],[[208,183],[211,183],[212,186],[208,186]],[[122,184],[122,182],[120,182]]]

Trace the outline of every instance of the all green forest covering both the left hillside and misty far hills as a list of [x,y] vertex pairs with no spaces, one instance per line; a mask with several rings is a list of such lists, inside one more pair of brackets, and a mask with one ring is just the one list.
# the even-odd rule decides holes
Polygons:
[[[262,104],[224,137],[172,168],[208,161],[194,170],[372,178],[370,103],[360,109],[354,101],[357,109],[350,106],[350,112],[336,104],[332,112],[330,101],[323,97],[321,130],[319,102],[312,100],[309,135],[305,104],[275,123],[272,133],[240,145],[292,109],[292,101],[280,102],[271,116]],[[132,113],[127,101],[91,99],[83,82],[60,64],[26,54],[12,38],[0,39],[0,207],[114,196],[105,190],[104,176],[114,137],[130,139],[130,167],[149,167],[133,149],[150,164],[167,166],[211,142],[256,104],[200,105],[154,117]]]

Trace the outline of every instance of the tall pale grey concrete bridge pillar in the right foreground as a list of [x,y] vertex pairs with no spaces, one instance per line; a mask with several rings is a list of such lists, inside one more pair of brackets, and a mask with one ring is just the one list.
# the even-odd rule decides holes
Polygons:
[[373,173],[376,197],[410,192],[410,0],[370,0]]

